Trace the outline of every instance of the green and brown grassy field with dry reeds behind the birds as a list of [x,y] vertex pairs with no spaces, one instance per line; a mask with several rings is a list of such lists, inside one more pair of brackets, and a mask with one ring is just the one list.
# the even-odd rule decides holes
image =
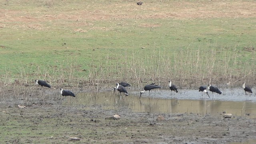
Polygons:
[[255,84],[254,1],[0,4],[5,85],[14,80],[32,84],[38,78],[71,86],[78,80],[141,85],[172,79],[180,88],[238,79]]

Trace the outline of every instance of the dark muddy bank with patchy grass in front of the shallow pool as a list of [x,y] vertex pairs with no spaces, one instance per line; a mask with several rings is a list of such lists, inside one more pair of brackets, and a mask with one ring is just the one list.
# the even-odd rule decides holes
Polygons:
[[[220,144],[256,139],[255,119],[246,117],[133,112],[125,106],[104,109],[101,105],[72,104],[73,97],[47,90],[44,94],[37,91],[31,90],[22,98],[10,92],[1,99],[1,143]],[[26,108],[18,108],[18,104]],[[121,119],[105,120],[114,114]],[[158,115],[164,120],[156,120]],[[80,141],[69,141],[70,137]]]

